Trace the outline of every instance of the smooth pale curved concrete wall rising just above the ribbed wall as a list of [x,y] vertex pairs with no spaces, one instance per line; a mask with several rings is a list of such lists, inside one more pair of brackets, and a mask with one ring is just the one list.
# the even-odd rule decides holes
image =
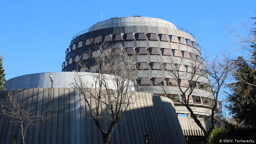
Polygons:
[[[5,90],[15,90],[15,89],[25,89],[25,88],[50,88],[50,74],[52,74],[52,80],[54,81],[54,88],[71,88],[73,87],[72,83],[75,83],[75,79],[78,79],[78,76],[81,76],[83,82],[88,83],[88,87],[91,87],[91,84],[95,84],[94,77],[91,73],[88,72],[45,72],[45,73],[34,73],[29,75],[23,75],[14,77],[5,82]],[[97,75],[94,73],[93,75]],[[105,75],[106,79],[109,81],[109,88],[115,88],[110,75]],[[112,85],[111,85],[112,84]]]

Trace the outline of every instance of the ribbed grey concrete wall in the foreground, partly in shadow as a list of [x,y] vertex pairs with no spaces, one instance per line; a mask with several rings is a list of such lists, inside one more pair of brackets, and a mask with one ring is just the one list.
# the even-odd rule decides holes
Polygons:
[[[10,91],[24,107],[34,107],[39,113],[53,107],[56,116],[40,125],[30,127],[27,144],[101,144],[102,137],[88,114],[82,96],[74,88],[30,88]],[[143,144],[148,133],[150,144],[182,144],[185,139],[173,103],[162,96],[140,93],[142,98],[129,106],[111,136],[112,144]],[[1,101],[8,101],[8,91],[0,93]],[[0,144],[11,144],[12,134],[20,129],[0,115]]]

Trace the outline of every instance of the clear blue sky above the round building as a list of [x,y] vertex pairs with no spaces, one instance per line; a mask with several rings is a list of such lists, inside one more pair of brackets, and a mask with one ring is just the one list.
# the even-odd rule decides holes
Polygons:
[[[210,53],[234,49],[227,26],[255,16],[255,0],[241,1],[1,1],[0,52],[6,79],[61,71],[71,38],[116,16],[160,18],[191,31]],[[237,53],[237,52],[235,52]],[[239,53],[239,52],[238,52]]]

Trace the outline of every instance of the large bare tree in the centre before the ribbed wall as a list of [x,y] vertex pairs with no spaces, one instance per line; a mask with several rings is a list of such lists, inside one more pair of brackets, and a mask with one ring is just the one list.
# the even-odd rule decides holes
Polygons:
[[114,46],[102,43],[95,49],[91,59],[94,65],[88,68],[87,62],[79,61],[78,67],[88,73],[77,73],[72,84],[83,95],[103,142],[109,144],[116,123],[133,101],[137,75],[132,56],[127,56],[121,43]]

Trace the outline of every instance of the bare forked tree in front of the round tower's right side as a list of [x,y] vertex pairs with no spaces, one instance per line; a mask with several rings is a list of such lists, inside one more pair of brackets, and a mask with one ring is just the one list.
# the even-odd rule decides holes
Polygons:
[[[215,128],[217,119],[215,114],[218,111],[217,106],[219,102],[219,94],[221,89],[226,86],[227,79],[231,73],[232,64],[230,56],[223,54],[222,58],[216,56],[214,60],[207,62],[208,64],[205,65],[205,60],[202,60],[199,57],[200,54],[196,52],[197,51],[195,51],[194,54],[190,53],[190,60],[186,60],[190,62],[187,66],[185,66],[185,69],[182,65],[182,61],[185,59],[183,58],[184,53],[182,53],[181,58],[176,57],[175,59],[174,57],[169,57],[171,65],[170,68],[168,68],[167,65],[162,66],[163,69],[165,69],[165,71],[167,71],[167,73],[173,77],[172,80],[174,83],[176,83],[178,91],[181,93],[181,98],[169,95],[168,90],[166,90],[164,87],[163,91],[171,99],[179,102],[181,105],[184,105],[187,108],[195,123],[200,127],[200,129],[202,129],[205,143],[210,143],[210,134]],[[186,71],[186,73],[184,71]],[[208,75],[210,76],[210,83],[205,82],[204,84],[201,84],[201,77],[208,77]],[[172,82],[169,81],[167,83]],[[210,111],[208,111],[210,115],[204,117],[210,122],[210,127],[208,129],[203,126],[202,122],[197,117],[197,114],[194,113],[193,104],[191,103],[192,95],[195,94],[195,88],[201,88],[201,86],[203,89],[208,89],[208,91],[212,92],[211,95],[204,96],[204,98],[207,98],[208,101],[211,100],[211,104],[209,106]]]

